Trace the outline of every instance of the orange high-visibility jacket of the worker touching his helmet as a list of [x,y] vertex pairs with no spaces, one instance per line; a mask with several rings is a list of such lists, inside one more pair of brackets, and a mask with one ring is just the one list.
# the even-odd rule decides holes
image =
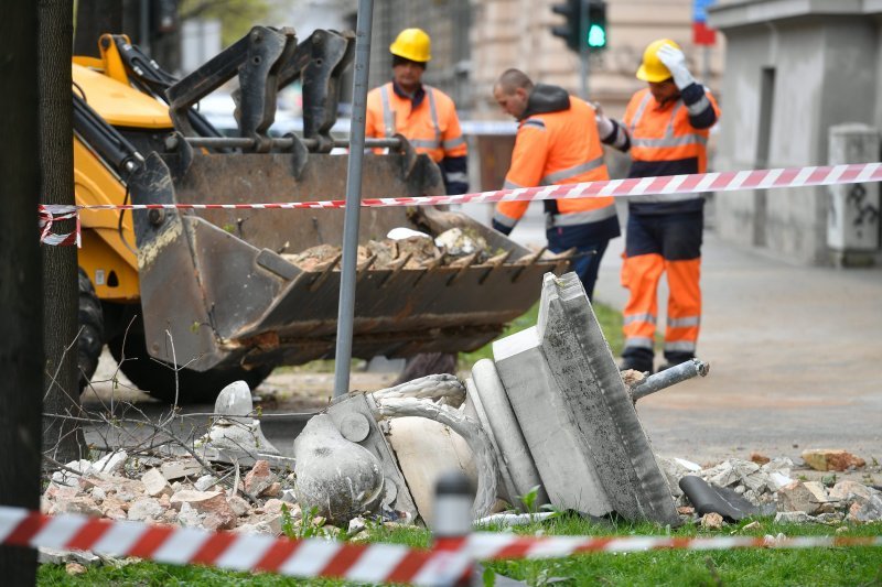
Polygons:
[[[713,96],[704,89],[699,102],[688,107],[681,98],[659,105],[648,88],[631,98],[624,124],[631,135],[631,177],[652,177],[685,173],[704,173],[708,166],[709,129],[690,123],[690,109],[720,109]],[[693,116],[696,112],[691,112]],[[700,199],[695,194],[634,196],[630,203],[662,203]]]

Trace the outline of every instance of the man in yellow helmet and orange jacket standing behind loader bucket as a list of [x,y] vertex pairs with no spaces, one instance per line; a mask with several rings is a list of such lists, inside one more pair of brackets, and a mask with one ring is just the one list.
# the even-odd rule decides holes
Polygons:
[[405,29],[389,46],[392,80],[367,95],[366,137],[402,134],[417,153],[438,163],[448,194],[469,191],[467,148],[453,100],[422,83],[431,40],[421,29]]

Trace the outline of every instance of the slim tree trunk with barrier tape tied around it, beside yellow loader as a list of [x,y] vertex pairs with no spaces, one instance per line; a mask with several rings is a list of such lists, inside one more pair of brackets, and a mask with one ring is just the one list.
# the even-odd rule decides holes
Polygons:
[[[40,162],[45,204],[74,204],[73,102],[71,44],[73,0],[40,1]],[[69,220],[60,232],[75,229]],[[76,247],[43,247],[43,412],[79,416],[77,368],[78,275]],[[83,431],[76,422],[43,421],[43,450],[62,463],[85,456]]]

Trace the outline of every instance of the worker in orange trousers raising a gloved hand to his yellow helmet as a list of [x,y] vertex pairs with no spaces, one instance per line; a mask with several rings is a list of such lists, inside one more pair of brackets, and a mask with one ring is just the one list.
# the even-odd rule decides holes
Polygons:
[[[686,65],[680,46],[654,41],[643,54],[637,78],[648,84],[625,110],[624,124],[601,115],[606,144],[631,151],[628,177],[703,173],[709,129],[720,109]],[[695,357],[701,323],[701,233],[704,199],[697,194],[628,198],[622,284],[630,298],[624,311],[622,369],[653,370],[657,287],[667,272],[665,363],[659,370]]]

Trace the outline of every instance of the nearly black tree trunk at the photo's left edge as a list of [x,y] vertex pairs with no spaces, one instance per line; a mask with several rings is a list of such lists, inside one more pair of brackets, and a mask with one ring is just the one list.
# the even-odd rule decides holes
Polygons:
[[[43,292],[36,75],[37,4],[7,2],[0,19],[0,503],[40,508]],[[36,551],[0,546],[3,585],[33,585]]]

